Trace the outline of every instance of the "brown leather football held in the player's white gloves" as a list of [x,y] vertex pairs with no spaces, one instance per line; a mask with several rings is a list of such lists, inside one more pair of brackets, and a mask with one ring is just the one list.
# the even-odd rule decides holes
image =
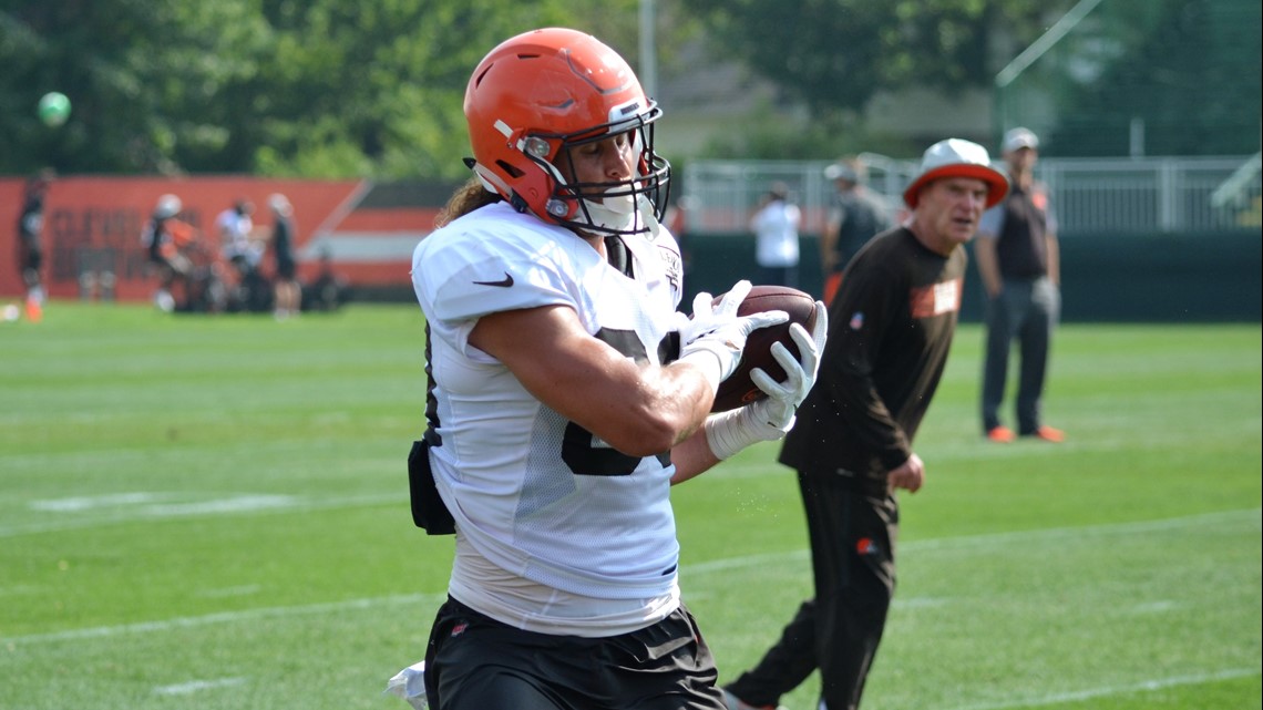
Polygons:
[[[719,303],[719,298],[715,299]],[[745,407],[767,397],[750,379],[750,370],[762,368],[772,379],[784,382],[786,371],[772,356],[772,344],[784,342],[789,352],[797,358],[798,346],[789,337],[789,325],[799,323],[811,332],[816,325],[816,299],[811,296],[784,286],[755,286],[736,310],[739,316],[762,313],[764,311],[784,311],[789,320],[775,326],[759,328],[745,340],[745,350],[736,371],[719,384],[715,404],[711,412],[726,412]]]

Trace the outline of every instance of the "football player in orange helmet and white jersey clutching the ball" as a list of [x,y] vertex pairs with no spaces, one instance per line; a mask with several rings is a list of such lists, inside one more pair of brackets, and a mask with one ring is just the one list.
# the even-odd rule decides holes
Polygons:
[[710,416],[746,335],[786,315],[736,317],[749,282],[676,313],[661,110],[626,62],[575,30],[525,33],[479,63],[465,115],[476,179],[413,255],[428,332],[413,512],[456,534],[431,707],[721,710],[679,598],[669,486],[783,436],[825,326],[792,328],[802,361],[774,349],[789,378],[762,380],[768,399]]

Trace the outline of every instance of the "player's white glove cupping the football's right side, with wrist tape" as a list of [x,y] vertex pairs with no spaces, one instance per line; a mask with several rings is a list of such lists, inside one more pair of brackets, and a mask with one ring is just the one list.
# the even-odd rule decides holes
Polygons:
[[753,404],[711,414],[706,418],[706,443],[720,460],[759,441],[775,441],[786,435],[794,423],[794,412],[807,398],[816,374],[820,371],[820,354],[825,350],[825,337],[829,334],[829,312],[825,304],[816,302],[816,326],[811,334],[807,328],[793,323],[789,337],[798,346],[798,360],[789,349],[777,342],[772,346],[772,356],[784,368],[784,383],[772,379],[759,368],[750,370],[750,379],[768,397]]

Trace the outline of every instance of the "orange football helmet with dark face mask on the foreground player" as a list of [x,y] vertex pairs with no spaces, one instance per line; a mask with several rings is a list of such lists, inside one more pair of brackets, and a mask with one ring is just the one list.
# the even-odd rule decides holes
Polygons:
[[[653,149],[661,115],[623,57],[572,29],[506,39],[465,90],[471,167],[484,187],[519,212],[595,234],[657,230],[671,181],[671,164]],[[629,131],[639,152],[630,179],[567,183],[557,169],[570,149]]]

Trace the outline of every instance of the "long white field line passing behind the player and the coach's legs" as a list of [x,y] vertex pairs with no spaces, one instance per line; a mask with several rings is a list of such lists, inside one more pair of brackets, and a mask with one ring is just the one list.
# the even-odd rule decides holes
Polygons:
[[[1239,522],[1248,519],[1255,524],[1259,524],[1260,517],[1263,517],[1263,509],[1254,508],[1249,510],[1230,510],[1226,513],[1188,515],[1185,518],[1170,518],[1164,520],[1151,520],[1144,523],[1122,523],[1115,526],[1091,526],[1084,528],[1047,528],[1042,531],[1028,531],[1021,533],[998,533],[998,534],[971,536],[971,537],[926,539],[903,545],[902,550],[904,551],[909,548],[942,550],[946,547],[955,547],[957,545],[969,547],[983,547],[983,546],[1000,547],[1009,545],[1014,541],[1061,539],[1063,537],[1081,538],[1084,534],[1089,533],[1135,534],[1143,532],[1152,532],[1156,529],[1182,529],[1182,528],[1201,529],[1207,523],[1216,520]],[[774,562],[806,560],[806,558],[807,558],[806,550],[796,550],[789,552],[769,552],[763,555],[743,555],[739,557],[729,557],[724,560],[712,560],[710,562],[697,562],[697,563],[685,565],[682,571],[686,575],[695,575],[695,574],[706,575],[731,569],[764,566]],[[0,638],[0,647],[29,644],[29,643],[80,641],[88,638],[107,638],[120,634],[168,632],[174,629],[205,627],[212,624],[235,623],[249,619],[323,614],[327,611],[371,609],[376,606],[418,604],[427,601],[433,603],[433,601],[440,601],[442,599],[445,599],[445,594],[405,594],[405,595],[393,595],[393,596],[352,599],[347,601],[338,601],[331,604],[309,604],[304,606],[273,606],[265,609],[249,609],[244,611],[225,611],[220,614],[206,614],[203,617],[183,617],[177,619],[167,619],[162,622],[141,622],[136,624],[123,624],[116,627],[92,627],[85,629],[69,629],[64,632],[53,632],[44,634]]]

